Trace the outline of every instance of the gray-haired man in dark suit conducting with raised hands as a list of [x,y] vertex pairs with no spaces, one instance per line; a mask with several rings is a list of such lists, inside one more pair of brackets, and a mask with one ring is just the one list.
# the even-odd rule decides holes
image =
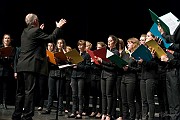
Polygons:
[[56,28],[50,35],[42,31],[36,14],[27,14],[25,22],[27,27],[21,34],[21,52],[16,66],[17,90],[12,120],[33,120],[35,83],[41,74],[48,74],[46,45],[60,37],[66,20],[56,22]]

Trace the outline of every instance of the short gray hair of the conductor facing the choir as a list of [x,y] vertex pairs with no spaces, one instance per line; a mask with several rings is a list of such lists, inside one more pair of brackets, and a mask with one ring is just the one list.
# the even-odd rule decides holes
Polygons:
[[25,22],[27,25],[33,25],[33,22],[35,19],[38,19],[37,15],[35,15],[33,13],[29,13],[25,17]]

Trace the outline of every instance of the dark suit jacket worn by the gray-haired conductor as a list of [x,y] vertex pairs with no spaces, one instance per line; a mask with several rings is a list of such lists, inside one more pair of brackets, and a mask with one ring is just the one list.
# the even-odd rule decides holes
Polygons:
[[60,28],[47,35],[40,28],[28,26],[21,35],[21,52],[17,72],[35,72],[48,75],[46,45],[58,39]]

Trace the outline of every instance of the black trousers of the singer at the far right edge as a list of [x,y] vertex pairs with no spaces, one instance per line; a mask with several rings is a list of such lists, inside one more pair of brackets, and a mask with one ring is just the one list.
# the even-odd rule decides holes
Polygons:
[[177,70],[169,69],[166,72],[166,86],[169,103],[169,112],[172,120],[179,120],[180,116],[180,92]]

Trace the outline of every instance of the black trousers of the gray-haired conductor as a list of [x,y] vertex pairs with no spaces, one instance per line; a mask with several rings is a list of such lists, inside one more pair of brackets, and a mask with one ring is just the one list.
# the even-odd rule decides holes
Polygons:
[[[32,120],[34,116],[34,92],[39,74],[33,72],[18,73],[15,110],[13,120]],[[24,110],[23,110],[24,108]]]

